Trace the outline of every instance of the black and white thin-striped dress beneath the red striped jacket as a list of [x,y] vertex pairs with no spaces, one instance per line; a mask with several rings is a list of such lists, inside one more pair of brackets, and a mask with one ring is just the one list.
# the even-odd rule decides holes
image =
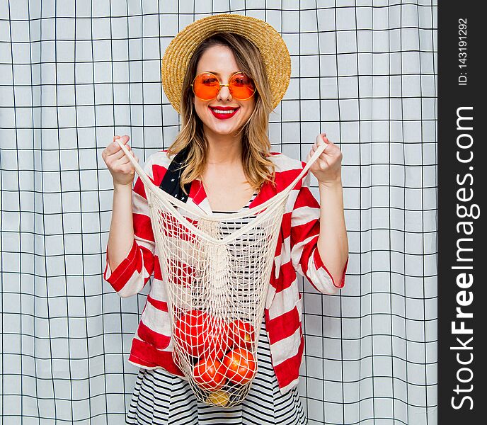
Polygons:
[[[257,193],[254,193],[251,200],[241,210],[248,208],[256,196]],[[229,229],[232,230],[231,226]],[[264,317],[258,339],[257,364],[256,377],[252,381],[248,395],[241,404],[229,408],[214,407],[199,402],[187,381],[168,373],[163,368],[140,368],[125,423],[144,425],[307,424],[297,387],[292,388],[285,395],[280,393],[271,363]]]

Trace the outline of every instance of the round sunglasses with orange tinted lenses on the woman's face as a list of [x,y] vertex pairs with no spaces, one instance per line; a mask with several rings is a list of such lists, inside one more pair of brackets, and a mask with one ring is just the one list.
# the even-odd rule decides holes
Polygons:
[[244,72],[237,71],[231,74],[228,84],[222,84],[218,77],[211,72],[202,72],[193,80],[193,93],[202,101],[210,101],[219,94],[222,87],[228,87],[232,97],[239,101],[246,101],[256,92],[253,80]]

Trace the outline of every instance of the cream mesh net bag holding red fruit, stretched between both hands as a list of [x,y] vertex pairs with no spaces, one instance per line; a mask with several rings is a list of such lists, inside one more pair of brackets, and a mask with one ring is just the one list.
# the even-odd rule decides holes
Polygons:
[[154,185],[120,141],[144,183],[171,315],[173,358],[197,399],[231,407],[248,394],[285,203],[297,178],[241,212],[207,215]]

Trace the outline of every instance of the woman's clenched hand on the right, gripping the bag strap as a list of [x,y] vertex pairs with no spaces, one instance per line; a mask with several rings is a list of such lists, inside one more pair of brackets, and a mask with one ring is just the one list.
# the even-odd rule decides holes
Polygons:
[[309,168],[314,174],[319,183],[323,185],[339,183],[341,182],[341,163],[343,154],[340,148],[335,145],[331,140],[328,140],[326,133],[321,133],[316,137],[311,151],[306,157],[306,162],[314,155],[316,149],[326,144],[326,148],[316,161]]

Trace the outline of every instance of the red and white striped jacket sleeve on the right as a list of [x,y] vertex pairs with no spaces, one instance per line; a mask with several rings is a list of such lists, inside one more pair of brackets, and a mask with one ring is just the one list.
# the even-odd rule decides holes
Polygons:
[[318,251],[320,205],[309,189],[310,178],[308,171],[292,210],[291,261],[297,273],[307,278],[316,290],[334,294],[345,285],[348,258],[340,282],[335,282]]

